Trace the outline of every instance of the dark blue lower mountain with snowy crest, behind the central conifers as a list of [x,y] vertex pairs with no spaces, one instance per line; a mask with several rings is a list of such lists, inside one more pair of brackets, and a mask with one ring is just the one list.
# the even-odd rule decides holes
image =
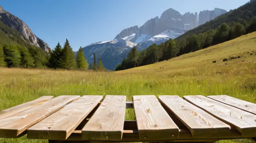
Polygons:
[[88,63],[93,63],[93,53],[95,53],[97,62],[101,59],[105,68],[114,70],[136,45],[124,39],[115,39],[92,43],[82,49]]

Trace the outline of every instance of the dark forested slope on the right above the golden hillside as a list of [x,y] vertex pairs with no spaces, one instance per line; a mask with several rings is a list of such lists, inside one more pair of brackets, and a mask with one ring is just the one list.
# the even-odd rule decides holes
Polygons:
[[116,71],[168,60],[253,31],[256,31],[256,0],[189,30],[174,40],[170,39],[160,45],[152,44],[140,52],[134,47],[116,67]]

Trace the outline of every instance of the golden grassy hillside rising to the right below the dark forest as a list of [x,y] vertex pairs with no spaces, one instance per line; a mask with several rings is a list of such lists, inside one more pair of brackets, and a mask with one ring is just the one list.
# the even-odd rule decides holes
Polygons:
[[[238,56],[241,58],[237,58]],[[231,57],[236,57],[236,59],[230,59]],[[225,58],[228,61],[223,62]],[[216,63],[213,63],[213,61],[216,61]],[[251,63],[251,66],[256,66],[256,32],[206,49],[190,52],[168,61],[117,71],[116,73],[140,74],[154,72],[156,74],[168,73],[174,77],[188,74],[195,76],[200,71],[200,74],[215,75],[225,74],[230,72],[229,70],[239,68],[242,64],[249,63]]]

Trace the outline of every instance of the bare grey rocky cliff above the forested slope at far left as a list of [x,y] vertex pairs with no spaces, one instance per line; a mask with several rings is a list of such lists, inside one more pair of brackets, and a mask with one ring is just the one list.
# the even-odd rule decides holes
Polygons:
[[46,52],[49,52],[49,46],[40,38],[38,38],[28,27],[26,23],[24,23],[18,17],[12,15],[10,12],[5,11],[3,7],[0,6],[0,19],[1,21],[9,26],[12,29],[19,31],[20,35],[24,40],[28,40],[31,45],[36,47],[40,47]]

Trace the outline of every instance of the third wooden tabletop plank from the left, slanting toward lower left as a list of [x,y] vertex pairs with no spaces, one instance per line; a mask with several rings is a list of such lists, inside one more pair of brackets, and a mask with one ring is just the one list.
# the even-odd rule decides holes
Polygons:
[[84,118],[99,104],[102,95],[85,95],[41,122],[28,128],[29,139],[67,139]]

